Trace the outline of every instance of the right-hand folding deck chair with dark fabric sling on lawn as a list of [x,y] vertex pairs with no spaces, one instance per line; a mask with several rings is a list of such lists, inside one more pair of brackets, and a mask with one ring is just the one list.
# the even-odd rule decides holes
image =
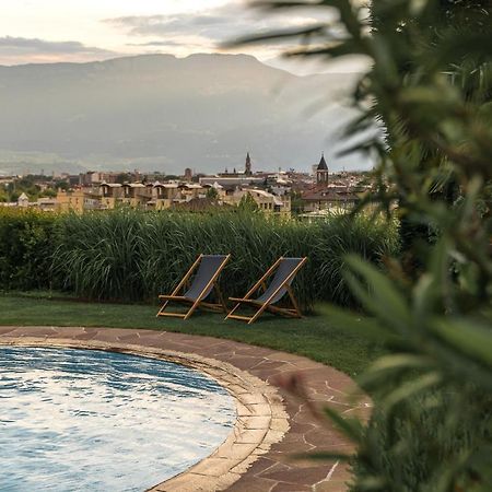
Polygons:
[[[235,302],[236,305],[231,313],[229,313],[225,319],[239,319],[242,321],[247,321],[248,325],[250,325],[251,323],[255,323],[265,311],[283,316],[300,318],[301,311],[294,294],[292,293],[291,283],[297,271],[306,261],[307,258],[279,258],[265,273],[265,276],[261,277],[261,279],[258,280],[258,282],[250,289],[244,298],[230,297],[230,301]],[[273,276],[273,278],[267,288],[266,281],[271,276]],[[260,296],[251,298],[253,294],[255,294],[255,292],[260,288],[263,288],[265,292]],[[292,307],[273,306],[273,304],[278,303],[285,294],[289,295]],[[253,316],[236,315],[235,312],[243,304],[255,308],[256,313]]]

